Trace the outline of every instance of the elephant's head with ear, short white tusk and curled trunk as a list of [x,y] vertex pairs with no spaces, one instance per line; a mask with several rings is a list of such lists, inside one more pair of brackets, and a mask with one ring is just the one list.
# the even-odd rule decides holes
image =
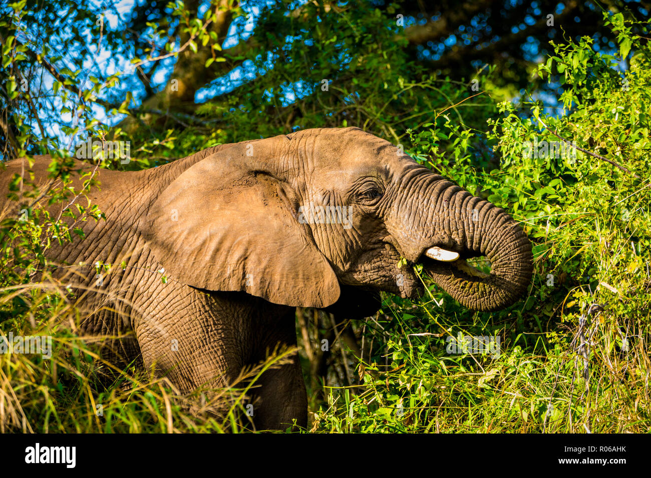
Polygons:
[[[288,306],[415,298],[411,266],[422,263],[464,306],[495,310],[518,300],[533,269],[505,211],[357,128],[219,148],[171,181],[143,226],[172,278]],[[490,274],[465,261],[478,256]]]

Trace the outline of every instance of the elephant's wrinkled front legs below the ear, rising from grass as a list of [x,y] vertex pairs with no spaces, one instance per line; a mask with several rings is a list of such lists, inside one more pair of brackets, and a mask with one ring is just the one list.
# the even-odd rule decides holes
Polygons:
[[[206,388],[203,397],[195,397],[194,414],[223,416],[232,405],[230,393],[219,399],[220,390],[210,388],[242,389],[245,383],[238,380],[245,366],[260,364],[278,345],[296,347],[295,309],[245,293],[191,291],[182,299],[165,297],[150,304],[150,310],[134,326],[145,367],[169,378],[182,393]],[[257,429],[284,429],[294,418],[301,427],[307,425],[298,354],[292,362],[265,371],[254,386],[243,405],[253,405]]]

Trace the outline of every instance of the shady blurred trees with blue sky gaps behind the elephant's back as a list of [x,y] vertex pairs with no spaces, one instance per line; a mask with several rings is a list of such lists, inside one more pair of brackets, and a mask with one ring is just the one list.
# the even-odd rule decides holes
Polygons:
[[[42,144],[30,139],[29,152],[70,149],[85,127],[100,137],[126,133],[143,158],[128,167],[146,167],[145,155],[167,161],[304,127],[355,124],[397,142],[479,90],[506,99],[538,88],[533,64],[548,40],[590,34],[613,47],[593,26],[602,8],[635,18],[650,7],[604,5],[154,0],[120,12],[113,2],[93,10],[23,0],[2,10],[0,149],[15,157],[17,137],[33,133]],[[61,11],[69,14],[59,19]],[[29,95],[12,85],[29,85]],[[475,113],[465,123],[482,127],[486,111]]]

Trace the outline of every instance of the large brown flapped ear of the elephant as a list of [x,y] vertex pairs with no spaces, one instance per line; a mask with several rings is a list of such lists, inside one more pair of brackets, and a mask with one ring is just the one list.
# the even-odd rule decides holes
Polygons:
[[329,306],[339,298],[337,276],[296,219],[296,196],[270,170],[277,160],[260,143],[255,156],[230,147],[187,168],[150,207],[145,238],[167,276],[184,284]]

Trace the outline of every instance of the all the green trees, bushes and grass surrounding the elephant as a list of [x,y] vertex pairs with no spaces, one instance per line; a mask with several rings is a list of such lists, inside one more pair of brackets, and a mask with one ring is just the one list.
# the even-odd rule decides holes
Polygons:
[[[42,51],[35,49],[34,22],[77,6],[32,4],[10,4],[0,19],[0,149],[6,159],[53,155],[51,172],[63,183],[47,191],[51,202],[66,205],[97,187],[89,176],[85,190],[68,189],[71,138],[82,133],[131,141],[128,165],[102,167],[148,168],[217,143],[359,126],[504,207],[531,237],[529,294],[500,312],[466,310],[425,276],[428,293],[420,302],[383,295],[380,312],[366,321],[338,324],[324,312],[299,310],[311,431],[651,431],[651,33],[633,8],[613,4],[602,12],[578,4],[587,18],[598,16],[598,27],[577,32],[568,25],[564,37],[559,23],[540,29],[538,55],[521,57],[513,44],[527,40],[519,36],[491,47],[477,66],[473,51],[465,63],[461,57],[464,68],[455,75],[457,63],[433,66],[415,43],[415,29],[408,30],[411,15],[411,27],[428,25],[420,21],[427,17],[399,4],[281,3],[262,10],[255,34],[229,48],[222,46],[228,24],[242,13],[229,2],[207,9],[154,2],[151,12],[134,12],[123,36],[101,17],[96,23],[94,11],[79,10],[71,36],[61,36],[59,45],[44,41]],[[514,5],[505,7],[509,21],[517,23],[512,10],[546,19],[545,3]],[[462,38],[458,25],[499,24],[490,15],[477,23],[482,12],[473,8],[449,18],[447,28],[457,25]],[[401,11],[407,28],[396,24]],[[156,12],[165,21],[143,20]],[[93,42],[74,46],[87,30]],[[429,41],[445,45],[449,34]],[[102,41],[114,60],[139,59],[132,62],[136,71],[87,70],[87,55]],[[495,53],[500,48],[505,55]],[[156,84],[154,70],[167,59],[146,57],[168,51],[180,52],[178,61],[171,77]],[[463,54],[442,51],[441,58]],[[202,74],[210,72],[208,81],[221,88],[203,102],[195,95],[205,83],[190,81],[197,58]],[[496,60],[505,58],[510,62]],[[242,65],[245,81],[229,77]],[[179,90],[171,89],[173,79]],[[572,148],[562,154],[549,148],[568,142]],[[29,174],[13,186],[28,187]],[[51,358],[0,354],[0,431],[243,429],[236,410],[246,391],[238,384],[221,393],[232,414],[201,419],[169,383],[143,371],[114,371],[119,378],[107,382],[111,365],[96,352],[100,338],[76,334],[85,311],[47,273],[49,245],[74,240],[77,230],[38,207],[41,193],[20,217],[1,217],[0,335],[52,336],[53,351]],[[77,220],[102,215],[92,205],[64,211]],[[448,353],[447,338],[459,334],[499,336],[500,353]],[[333,344],[329,351],[322,351],[324,338]]]

